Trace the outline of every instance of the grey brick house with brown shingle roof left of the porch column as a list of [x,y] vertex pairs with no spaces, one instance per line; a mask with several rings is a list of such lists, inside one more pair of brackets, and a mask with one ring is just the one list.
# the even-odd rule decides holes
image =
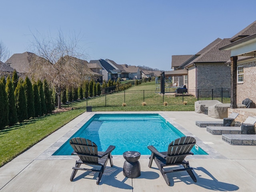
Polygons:
[[[176,70],[165,72],[165,76],[182,75],[182,84],[190,90],[230,88],[230,68],[226,64],[230,52],[219,50],[220,47],[227,45],[229,40],[217,38],[194,56],[187,56],[188,60]],[[183,57],[176,56],[175,59],[174,65],[177,65],[178,60]],[[179,86],[180,84],[181,82],[179,82]]]

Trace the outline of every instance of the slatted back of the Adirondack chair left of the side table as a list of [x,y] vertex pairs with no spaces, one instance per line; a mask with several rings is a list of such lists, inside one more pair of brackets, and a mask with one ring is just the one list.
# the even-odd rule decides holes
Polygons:
[[98,163],[98,147],[94,142],[86,138],[76,137],[72,138],[69,143],[82,162]]

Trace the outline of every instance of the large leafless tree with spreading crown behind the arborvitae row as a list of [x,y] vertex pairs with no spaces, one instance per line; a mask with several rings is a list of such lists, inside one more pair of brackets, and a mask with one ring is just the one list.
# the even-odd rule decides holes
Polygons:
[[75,34],[58,37],[32,34],[32,51],[36,54],[31,60],[30,74],[35,80],[46,79],[58,95],[58,109],[61,108],[61,91],[70,86],[79,86],[90,76],[85,62],[86,55],[79,46],[80,39]]

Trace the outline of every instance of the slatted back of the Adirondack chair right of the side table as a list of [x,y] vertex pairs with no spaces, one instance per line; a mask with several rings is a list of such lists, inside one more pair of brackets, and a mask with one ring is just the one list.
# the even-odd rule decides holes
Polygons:
[[185,136],[172,141],[167,150],[166,164],[180,163],[196,144],[196,139]]

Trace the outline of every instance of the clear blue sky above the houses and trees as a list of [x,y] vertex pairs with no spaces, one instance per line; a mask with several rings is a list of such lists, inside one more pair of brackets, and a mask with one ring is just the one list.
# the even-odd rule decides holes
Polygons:
[[254,0],[0,0],[0,41],[12,54],[31,34],[76,33],[89,60],[171,69],[172,55],[196,54],[256,20]]

